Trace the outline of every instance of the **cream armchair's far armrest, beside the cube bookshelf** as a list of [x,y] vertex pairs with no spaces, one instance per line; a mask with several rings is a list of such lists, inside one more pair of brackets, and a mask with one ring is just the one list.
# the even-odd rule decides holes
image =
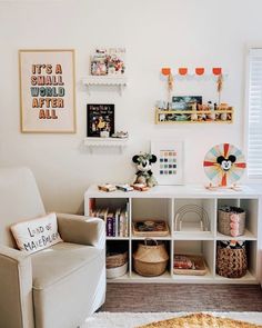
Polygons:
[[105,226],[99,218],[57,213],[58,229],[63,241],[104,248]]

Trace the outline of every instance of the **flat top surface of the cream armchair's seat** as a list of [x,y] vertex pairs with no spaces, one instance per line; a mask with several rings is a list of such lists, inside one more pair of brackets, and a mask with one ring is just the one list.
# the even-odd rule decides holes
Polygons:
[[78,243],[60,242],[31,255],[34,289],[59,282],[101,256],[101,250]]

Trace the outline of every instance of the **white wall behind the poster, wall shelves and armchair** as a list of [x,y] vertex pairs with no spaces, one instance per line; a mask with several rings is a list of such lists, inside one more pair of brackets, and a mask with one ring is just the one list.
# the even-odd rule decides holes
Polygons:
[[[78,0],[0,2],[0,165],[32,168],[48,210],[82,210],[83,192],[98,181],[125,181],[131,158],[150,140],[185,140],[185,180],[206,182],[202,160],[215,143],[243,146],[244,51],[262,44],[261,0]],[[81,78],[95,47],[125,47],[129,86],[88,96]],[[75,49],[75,135],[22,135],[19,116],[18,49]],[[223,67],[229,73],[222,100],[235,107],[233,125],[155,126],[153,106],[165,97],[163,66]],[[212,82],[178,82],[177,95],[215,100]],[[114,102],[117,129],[130,146],[91,155],[82,145],[88,102]]]

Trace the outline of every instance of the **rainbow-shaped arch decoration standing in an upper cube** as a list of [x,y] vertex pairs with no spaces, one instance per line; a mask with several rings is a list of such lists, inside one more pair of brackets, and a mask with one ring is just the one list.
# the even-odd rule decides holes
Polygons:
[[[190,221],[190,227],[195,229],[195,225],[198,225],[198,229],[194,231],[209,231],[210,232],[210,221],[209,221],[209,216],[206,213],[206,211],[194,203],[190,203],[190,205],[184,205],[182,206],[175,213],[174,216],[174,231],[183,231],[183,223],[187,222],[187,220],[184,219],[185,216],[193,213],[196,215],[196,218],[199,218],[198,221]],[[188,231],[190,230],[190,227],[187,227]]]

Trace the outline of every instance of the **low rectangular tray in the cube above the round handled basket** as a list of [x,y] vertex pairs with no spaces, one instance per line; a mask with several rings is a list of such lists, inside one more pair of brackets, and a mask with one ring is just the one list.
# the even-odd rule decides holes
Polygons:
[[169,236],[169,226],[163,220],[142,220],[133,222],[133,236],[137,237],[165,237]]

